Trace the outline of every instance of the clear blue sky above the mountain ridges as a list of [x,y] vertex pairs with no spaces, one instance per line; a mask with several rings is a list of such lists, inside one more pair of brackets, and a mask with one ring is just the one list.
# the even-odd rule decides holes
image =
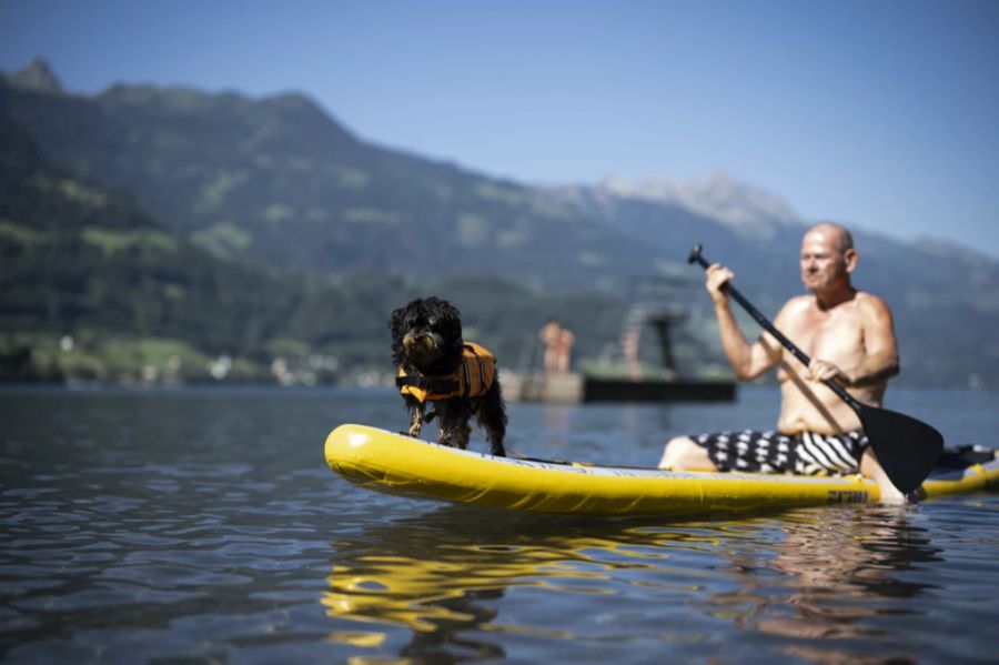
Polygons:
[[65,88],[297,90],[360,138],[544,184],[763,187],[999,258],[999,1],[0,0]]

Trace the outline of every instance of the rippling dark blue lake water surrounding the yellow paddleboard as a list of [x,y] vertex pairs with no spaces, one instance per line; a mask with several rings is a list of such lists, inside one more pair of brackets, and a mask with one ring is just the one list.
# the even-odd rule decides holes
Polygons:
[[[949,445],[999,393],[895,391]],[[653,465],[733,404],[511,404],[508,446]],[[999,494],[717,520],[565,518],[359,488],[344,422],[389,391],[0,390],[6,663],[996,662]],[[435,429],[432,429],[432,432]],[[481,435],[473,450],[485,450]]]

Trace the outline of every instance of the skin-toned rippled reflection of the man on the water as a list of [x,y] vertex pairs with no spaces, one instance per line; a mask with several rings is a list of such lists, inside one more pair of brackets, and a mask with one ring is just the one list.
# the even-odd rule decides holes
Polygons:
[[795,638],[780,649],[788,654],[820,663],[856,661],[860,654],[840,651],[837,644],[875,638],[901,649],[892,654],[894,662],[915,662],[917,654],[905,653],[905,639],[875,621],[920,612],[908,601],[930,585],[907,581],[900,573],[940,561],[940,550],[909,524],[906,510],[791,513],[785,516],[784,541],[764,562],[784,575],[783,588],[771,587],[753,557],[733,556],[729,570],[743,588],[713,601],[738,607],[739,627]]

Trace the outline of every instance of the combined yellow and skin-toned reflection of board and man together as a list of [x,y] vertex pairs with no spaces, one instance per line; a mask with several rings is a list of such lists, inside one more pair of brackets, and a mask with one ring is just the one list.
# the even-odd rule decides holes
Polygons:
[[[939,550],[909,524],[906,508],[823,508],[779,521],[672,525],[503,514],[472,523],[481,518],[447,507],[333,543],[336,563],[322,603],[330,616],[357,628],[331,639],[375,647],[385,629],[405,627],[411,642],[398,655],[446,646],[476,659],[511,655],[501,635],[566,645],[627,641],[634,636],[628,621],[609,615],[627,615],[634,605],[628,598],[638,596],[648,614],[663,618],[653,635],[687,643],[690,655],[726,622],[758,633],[756,639],[779,636],[777,651],[808,661],[862,653],[905,661],[915,655],[904,636],[876,619],[918,612],[905,601],[928,585],[898,574],[939,561]],[[513,596],[541,593],[553,607],[547,616],[533,613],[525,622],[505,611],[523,605]],[[583,602],[603,606],[603,618],[587,617]],[[677,606],[700,615],[687,622],[699,623],[700,632],[672,629]],[[840,644],[846,638],[849,644]]]

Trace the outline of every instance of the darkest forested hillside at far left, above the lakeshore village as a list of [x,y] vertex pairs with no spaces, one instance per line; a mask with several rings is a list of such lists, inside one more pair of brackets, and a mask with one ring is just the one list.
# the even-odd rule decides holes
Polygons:
[[[4,119],[0,255],[0,321],[7,335],[75,337],[75,360],[82,364],[93,361],[94,349],[84,354],[90,357],[81,355],[90,342],[109,335],[171,340],[174,351],[196,350],[202,361],[221,353],[260,355],[269,331],[296,300],[289,298],[296,292],[287,280],[219,261],[128,197],[51,168],[31,139]],[[29,346],[51,355],[44,344]],[[28,367],[24,372],[22,377],[31,377]]]

